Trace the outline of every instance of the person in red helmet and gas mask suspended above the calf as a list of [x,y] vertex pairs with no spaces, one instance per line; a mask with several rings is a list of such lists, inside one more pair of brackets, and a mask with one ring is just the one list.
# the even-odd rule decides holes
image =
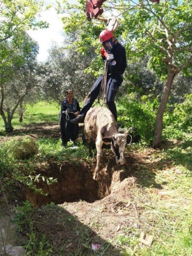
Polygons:
[[[113,33],[107,29],[103,30],[99,35],[99,41],[102,43],[101,56],[103,60],[107,59],[107,105],[117,121],[117,110],[115,105],[115,96],[119,86],[123,82],[123,73],[127,67],[125,47],[120,44]],[[93,102],[98,97],[103,75],[98,77],[91,88],[88,97],[83,104],[79,115],[70,120],[71,123],[83,123],[87,111],[91,108]]]

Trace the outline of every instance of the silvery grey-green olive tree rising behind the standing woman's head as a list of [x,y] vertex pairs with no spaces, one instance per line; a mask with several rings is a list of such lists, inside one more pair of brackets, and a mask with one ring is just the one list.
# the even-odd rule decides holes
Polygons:
[[84,73],[90,63],[91,54],[84,56],[76,51],[75,46],[52,45],[46,63],[38,69],[38,84],[43,98],[60,104],[70,88],[78,100],[85,98],[94,81],[93,75]]

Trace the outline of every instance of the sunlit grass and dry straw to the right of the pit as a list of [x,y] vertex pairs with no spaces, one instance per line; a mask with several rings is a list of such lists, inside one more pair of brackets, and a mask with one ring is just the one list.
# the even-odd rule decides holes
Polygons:
[[[191,140],[187,140],[180,147],[149,155],[151,163],[157,161],[156,165],[140,166],[139,184],[147,193],[142,195],[135,188],[135,204],[144,208],[137,220],[140,228],[125,228],[121,235],[114,238],[116,243],[122,245],[124,256],[192,255],[191,152]],[[138,193],[139,198],[136,196]],[[153,236],[151,247],[138,245],[141,231]]]

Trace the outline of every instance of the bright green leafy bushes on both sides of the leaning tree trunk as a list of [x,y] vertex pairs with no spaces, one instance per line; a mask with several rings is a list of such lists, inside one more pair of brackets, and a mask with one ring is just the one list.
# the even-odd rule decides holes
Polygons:
[[[130,94],[119,101],[119,106],[119,125],[122,128],[137,127],[142,139],[150,144],[154,136],[158,98],[151,100],[143,95],[136,100],[134,94]],[[192,94],[185,95],[185,101],[181,104],[167,104],[163,124],[163,139],[183,140],[192,133]]]

